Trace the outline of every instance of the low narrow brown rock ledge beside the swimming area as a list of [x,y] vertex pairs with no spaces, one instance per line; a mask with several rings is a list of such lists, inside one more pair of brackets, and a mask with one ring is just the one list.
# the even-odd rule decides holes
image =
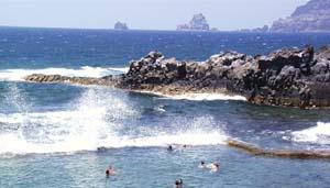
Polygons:
[[265,157],[280,157],[280,158],[330,158],[329,151],[296,151],[296,150],[270,150],[270,148],[260,148],[254,144],[238,140],[228,140],[227,144],[232,147],[244,150],[256,156]]

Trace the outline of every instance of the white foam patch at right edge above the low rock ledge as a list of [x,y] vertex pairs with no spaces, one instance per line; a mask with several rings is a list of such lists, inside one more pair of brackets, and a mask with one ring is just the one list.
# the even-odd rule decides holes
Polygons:
[[294,142],[330,144],[330,123],[318,122],[316,126],[292,133]]

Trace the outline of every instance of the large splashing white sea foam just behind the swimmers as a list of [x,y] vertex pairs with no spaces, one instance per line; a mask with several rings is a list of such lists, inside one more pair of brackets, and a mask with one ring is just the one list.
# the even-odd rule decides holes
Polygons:
[[[18,114],[2,122],[18,123]],[[20,132],[0,134],[1,154],[45,154],[96,151],[98,147],[166,147],[173,145],[218,145],[226,144],[227,135],[221,131],[201,129],[180,130],[177,133],[153,135],[119,135],[113,126],[99,119],[99,111],[46,112],[31,114],[30,122],[43,123],[43,130],[34,132],[36,139],[29,139]],[[22,118],[21,118],[22,119]],[[77,119],[79,119],[77,121]],[[77,124],[76,124],[77,123]],[[37,128],[41,129],[41,128]]]

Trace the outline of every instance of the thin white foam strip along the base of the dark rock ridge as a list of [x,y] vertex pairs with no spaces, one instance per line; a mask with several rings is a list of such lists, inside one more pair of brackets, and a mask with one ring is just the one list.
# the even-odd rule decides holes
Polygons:
[[222,93],[185,93],[185,95],[163,95],[161,92],[151,92],[151,91],[141,91],[141,93],[151,93],[155,96],[163,97],[162,99],[173,99],[173,100],[241,100],[246,101],[246,98],[243,96],[229,96]]

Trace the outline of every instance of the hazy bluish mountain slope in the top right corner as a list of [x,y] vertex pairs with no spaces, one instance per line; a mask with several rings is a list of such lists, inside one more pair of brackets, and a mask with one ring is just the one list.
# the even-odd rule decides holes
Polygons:
[[310,0],[286,19],[273,23],[273,32],[330,32],[330,0]]

